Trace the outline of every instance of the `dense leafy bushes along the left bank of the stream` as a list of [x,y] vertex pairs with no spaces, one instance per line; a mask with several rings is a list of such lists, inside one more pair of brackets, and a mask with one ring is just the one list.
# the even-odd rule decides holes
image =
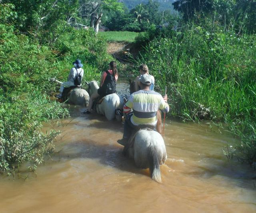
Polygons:
[[[41,122],[69,113],[58,102],[50,101],[56,85],[48,78],[57,76],[65,81],[72,62],[79,57],[84,64],[83,81],[89,81],[99,77],[95,71],[105,68],[109,61],[104,40],[93,30],[74,30],[63,23],[58,26],[60,32],[54,31],[50,29],[55,26],[47,20],[49,30],[44,24],[42,31],[35,30],[38,23],[27,22],[31,11],[21,8],[0,4],[0,172],[14,171],[26,160],[34,169],[52,151],[58,132],[43,134]],[[39,10],[34,12],[40,15]],[[61,16],[48,18],[62,20]]]

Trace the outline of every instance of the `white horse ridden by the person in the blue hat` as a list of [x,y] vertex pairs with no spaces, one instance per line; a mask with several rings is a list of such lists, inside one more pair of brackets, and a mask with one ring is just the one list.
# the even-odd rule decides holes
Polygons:
[[[62,82],[58,81],[56,78],[50,78],[49,81],[56,82],[59,85],[62,84]],[[83,106],[83,107],[88,107],[89,99],[90,97],[88,92],[80,87],[77,87],[71,90],[68,93],[68,97],[67,97],[68,103]]]

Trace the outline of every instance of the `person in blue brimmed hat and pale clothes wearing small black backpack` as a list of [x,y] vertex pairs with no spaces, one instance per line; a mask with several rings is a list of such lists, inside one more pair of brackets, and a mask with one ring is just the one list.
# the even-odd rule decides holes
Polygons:
[[79,87],[82,82],[82,78],[84,76],[84,70],[83,70],[83,64],[79,59],[77,59],[75,62],[73,62],[74,67],[70,70],[70,73],[68,75],[68,81],[63,82],[60,86],[60,94],[56,96],[56,98],[61,99],[62,93],[65,88],[70,87]]

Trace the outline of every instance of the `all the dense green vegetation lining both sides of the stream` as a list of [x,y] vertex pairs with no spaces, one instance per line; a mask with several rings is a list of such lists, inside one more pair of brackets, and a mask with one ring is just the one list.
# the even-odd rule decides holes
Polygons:
[[[99,77],[95,71],[110,60],[105,39],[95,33],[100,22],[144,32],[136,38],[144,50],[133,60],[148,64],[156,90],[167,86],[170,115],[224,121],[242,141],[226,149],[228,157],[255,165],[256,0],[178,0],[172,4],[178,16],[161,10],[160,1],[137,1],[130,10],[121,2],[0,1],[0,172],[26,160],[33,169],[53,150],[58,132],[43,134],[41,122],[68,110],[50,101],[56,85],[48,78],[66,80],[76,58],[84,81]],[[91,28],[79,29],[84,25]]]

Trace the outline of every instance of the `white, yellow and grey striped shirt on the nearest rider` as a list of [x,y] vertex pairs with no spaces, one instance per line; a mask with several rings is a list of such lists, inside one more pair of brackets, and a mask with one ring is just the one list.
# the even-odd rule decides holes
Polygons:
[[158,92],[139,90],[128,98],[124,105],[124,113],[128,113],[130,109],[133,109],[131,122],[134,125],[156,125],[156,111],[160,109],[161,111],[168,112],[169,106]]

